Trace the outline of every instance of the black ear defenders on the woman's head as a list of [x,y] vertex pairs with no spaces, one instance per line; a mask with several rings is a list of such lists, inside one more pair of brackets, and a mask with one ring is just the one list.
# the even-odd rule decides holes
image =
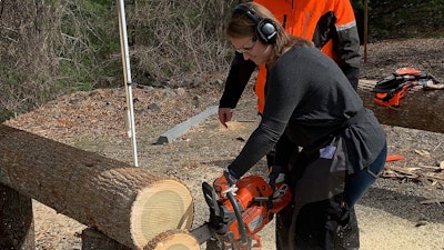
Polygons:
[[268,18],[261,18],[253,9],[245,4],[239,4],[233,13],[244,13],[256,23],[255,32],[261,41],[272,44],[276,40],[278,29],[274,22]]

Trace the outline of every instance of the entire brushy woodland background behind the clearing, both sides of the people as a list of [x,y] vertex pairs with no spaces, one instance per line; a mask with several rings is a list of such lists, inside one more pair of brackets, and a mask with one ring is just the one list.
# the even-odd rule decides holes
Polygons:
[[[240,2],[127,0],[133,82],[193,88],[226,72],[223,20]],[[123,86],[117,3],[0,0],[0,121],[67,93]],[[364,1],[352,4],[363,36]],[[442,38],[442,0],[369,0],[369,42]]]

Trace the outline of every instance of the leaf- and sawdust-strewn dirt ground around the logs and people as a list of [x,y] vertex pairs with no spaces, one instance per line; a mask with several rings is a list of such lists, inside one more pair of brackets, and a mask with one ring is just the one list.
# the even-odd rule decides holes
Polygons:
[[[364,48],[363,53],[364,53]],[[386,77],[400,67],[415,67],[444,80],[444,39],[371,43],[363,79]],[[193,227],[208,219],[200,184],[219,177],[255,128],[254,96],[245,91],[224,129],[215,116],[169,144],[154,142],[164,131],[210,106],[218,104],[224,76],[198,88],[133,89],[139,163],[186,183],[195,200]],[[125,137],[124,89],[101,89],[61,97],[6,123],[88,151],[132,162]],[[383,176],[356,206],[362,250],[444,250],[444,136],[384,126],[390,153],[405,157],[387,162]],[[265,162],[251,173],[264,174]],[[402,169],[395,171],[393,169]],[[84,226],[34,201],[38,250],[80,250]],[[264,250],[274,250],[273,223],[261,231]],[[204,247],[202,247],[204,249]]]

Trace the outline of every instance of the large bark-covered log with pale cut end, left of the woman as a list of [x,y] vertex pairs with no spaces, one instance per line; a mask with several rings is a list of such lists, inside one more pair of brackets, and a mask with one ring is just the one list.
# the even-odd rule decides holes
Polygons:
[[4,124],[0,182],[133,249],[192,224],[180,181]]

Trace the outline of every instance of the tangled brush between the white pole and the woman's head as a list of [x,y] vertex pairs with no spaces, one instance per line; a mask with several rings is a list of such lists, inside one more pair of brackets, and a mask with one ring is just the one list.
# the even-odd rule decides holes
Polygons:
[[[234,1],[135,1],[128,8],[135,81],[226,69],[223,20]],[[231,52],[232,53],[232,52]]]

